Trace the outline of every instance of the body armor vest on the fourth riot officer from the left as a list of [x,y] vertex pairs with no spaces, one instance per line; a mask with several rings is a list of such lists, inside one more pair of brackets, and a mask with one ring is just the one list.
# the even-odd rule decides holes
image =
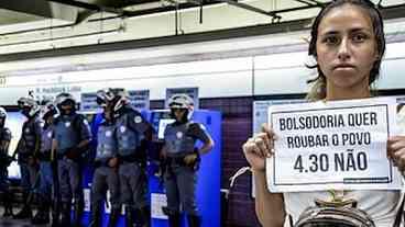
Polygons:
[[63,115],[56,120],[55,138],[57,140],[57,155],[63,156],[66,151],[79,143],[79,135],[75,129],[75,115]]

